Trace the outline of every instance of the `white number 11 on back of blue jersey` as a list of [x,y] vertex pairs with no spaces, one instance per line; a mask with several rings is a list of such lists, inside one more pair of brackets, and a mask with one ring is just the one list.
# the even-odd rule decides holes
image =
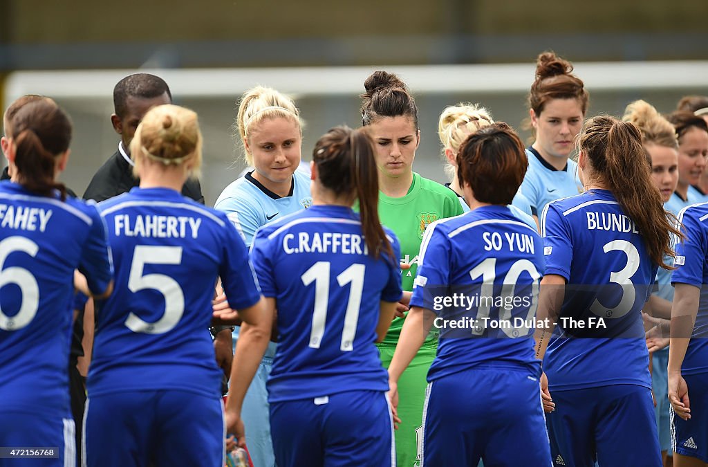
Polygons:
[[[356,325],[359,320],[359,305],[361,304],[361,294],[364,289],[363,264],[352,264],[337,276],[337,283],[340,287],[351,283],[349,288],[349,300],[347,300],[347,310],[344,313],[344,329],[342,330],[342,340],[339,349],[341,351],[352,351]],[[310,332],[309,347],[319,349],[324,335],[324,325],[327,321],[327,305],[329,304],[329,261],[317,261],[310,269],[307,269],[300,278],[305,286],[309,286],[314,281],[314,313],[312,314],[312,332]]]

